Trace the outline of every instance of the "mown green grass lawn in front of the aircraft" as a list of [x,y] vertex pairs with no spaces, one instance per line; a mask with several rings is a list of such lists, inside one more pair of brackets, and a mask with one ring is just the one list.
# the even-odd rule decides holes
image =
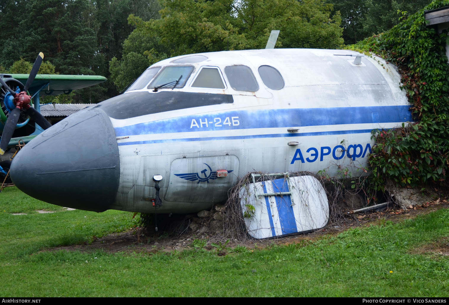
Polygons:
[[136,224],[132,213],[65,211],[14,187],[0,198],[0,296],[449,296],[449,257],[411,254],[449,243],[448,209],[226,256],[110,254],[39,251],[123,231]]

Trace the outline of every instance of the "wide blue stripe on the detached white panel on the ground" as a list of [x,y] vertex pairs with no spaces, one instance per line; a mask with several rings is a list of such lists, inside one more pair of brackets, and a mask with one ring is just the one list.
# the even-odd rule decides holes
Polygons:
[[[290,192],[286,179],[275,179],[271,182],[273,184],[273,192]],[[282,235],[296,233],[295,213],[291,206],[291,196],[282,195],[274,196],[276,200],[277,213],[279,215],[279,222],[281,224]]]

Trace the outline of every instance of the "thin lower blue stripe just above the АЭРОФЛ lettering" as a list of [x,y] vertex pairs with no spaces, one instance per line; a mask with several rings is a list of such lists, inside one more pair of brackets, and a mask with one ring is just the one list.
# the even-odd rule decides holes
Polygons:
[[215,140],[260,139],[260,138],[305,137],[305,136],[314,136],[314,135],[346,135],[346,134],[370,133],[371,131],[372,131],[372,129],[358,129],[358,130],[317,131],[317,132],[286,133],[286,134],[233,135],[233,136],[228,136],[228,137],[160,139],[160,140],[130,141],[130,142],[118,143],[118,145],[119,146],[123,146],[123,145],[137,145],[137,144],[168,143],[168,142],[190,142],[190,141],[215,141]]

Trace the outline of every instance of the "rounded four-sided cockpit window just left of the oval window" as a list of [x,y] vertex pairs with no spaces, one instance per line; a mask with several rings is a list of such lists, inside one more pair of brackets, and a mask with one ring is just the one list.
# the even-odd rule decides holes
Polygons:
[[225,74],[229,85],[236,91],[255,92],[259,90],[259,84],[250,67],[246,65],[228,65]]

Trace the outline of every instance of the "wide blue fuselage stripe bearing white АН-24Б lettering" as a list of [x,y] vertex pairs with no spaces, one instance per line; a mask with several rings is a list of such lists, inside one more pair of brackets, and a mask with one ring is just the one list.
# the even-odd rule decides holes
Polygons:
[[150,135],[292,126],[411,122],[409,105],[233,110],[194,114],[114,128],[115,135]]

